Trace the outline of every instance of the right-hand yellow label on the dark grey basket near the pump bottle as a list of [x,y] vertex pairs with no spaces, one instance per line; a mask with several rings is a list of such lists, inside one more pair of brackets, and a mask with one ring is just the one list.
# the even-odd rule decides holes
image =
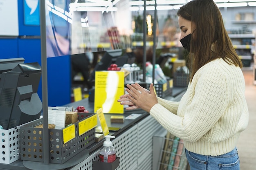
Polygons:
[[97,126],[97,115],[93,115],[87,119],[84,119],[78,123],[79,127],[79,136],[83,135],[85,132],[91,130]]

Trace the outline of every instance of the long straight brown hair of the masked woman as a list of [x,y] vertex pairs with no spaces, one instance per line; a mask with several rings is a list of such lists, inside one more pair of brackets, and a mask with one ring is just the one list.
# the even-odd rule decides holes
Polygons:
[[220,10],[213,0],[192,0],[182,6],[177,15],[191,21],[194,30],[188,60],[190,81],[199,68],[216,58],[242,68],[243,64],[225,29]]

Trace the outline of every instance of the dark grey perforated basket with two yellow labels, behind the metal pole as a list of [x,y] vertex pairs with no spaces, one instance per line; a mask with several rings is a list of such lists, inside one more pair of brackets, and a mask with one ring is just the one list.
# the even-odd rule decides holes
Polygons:
[[[67,127],[69,129],[49,129],[49,163],[65,163],[95,142],[97,115],[94,113],[78,113],[78,115],[79,121]],[[21,160],[43,162],[43,128],[35,128],[40,124],[43,124],[43,119],[31,121],[20,127]],[[85,126],[90,130],[81,134]],[[69,130],[75,136],[64,143],[65,133],[69,133]]]

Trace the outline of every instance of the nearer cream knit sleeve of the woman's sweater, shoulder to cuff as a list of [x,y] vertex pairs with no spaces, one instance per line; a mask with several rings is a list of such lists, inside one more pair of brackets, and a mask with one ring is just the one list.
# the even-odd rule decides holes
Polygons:
[[179,109],[184,116],[171,113],[161,104],[155,104],[150,115],[173,135],[188,142],[198,141],[225,113],[227,88],[226,75],[218,67],[201,71],[193,77],[188,94],[180,101]]

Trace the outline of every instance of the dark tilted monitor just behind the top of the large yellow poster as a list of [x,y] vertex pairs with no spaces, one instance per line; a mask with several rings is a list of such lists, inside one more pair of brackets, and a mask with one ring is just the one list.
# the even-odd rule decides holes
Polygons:
[[93,82],[95,80],[95,71],[106,71],[108,70],[108,67],[116,63],[117,57],[120,57],[122,55],[122,50],[121,49],[116,49],[116,50],[108,50],[104,53],[103,57],[101,60],[96,64],[94,70],[90,74],[89,80]]

